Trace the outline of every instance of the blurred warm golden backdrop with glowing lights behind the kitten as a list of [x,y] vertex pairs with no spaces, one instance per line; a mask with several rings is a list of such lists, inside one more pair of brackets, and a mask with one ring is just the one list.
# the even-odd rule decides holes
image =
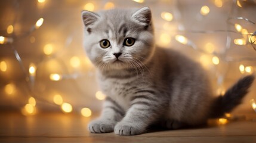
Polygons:
[[[0,111],[98,113],[105,95],[83,49],[81,11],[144,6],[157,44],[201,63],[216,95],[254,74],[255,0],[1,0]],[[254,99],[256,83],[235,113],[255,113]]]

